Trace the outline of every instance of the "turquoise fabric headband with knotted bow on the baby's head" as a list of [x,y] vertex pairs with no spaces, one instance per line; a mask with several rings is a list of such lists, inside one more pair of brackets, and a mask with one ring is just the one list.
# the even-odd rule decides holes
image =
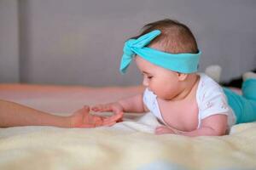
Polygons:
[[148,32],[137,39],[130,39],[125,42],[124,54],[121,59],[119,71],[125,74],[131,60],[137,54],[154,65],[166,68],[171,71],[182,73],[196,72],[199,65],[201,51],[198,54],[169,54],[154,48],[147,48],[149,42],[160,35],[159,30]]

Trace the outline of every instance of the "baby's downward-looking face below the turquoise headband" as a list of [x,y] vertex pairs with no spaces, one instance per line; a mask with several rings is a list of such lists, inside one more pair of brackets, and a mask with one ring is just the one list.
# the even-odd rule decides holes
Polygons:
[[153,65],[137,56],[138,69],[143,74],[143,85],[154,92],[160,99],[173,99],[179,92],[178,73]]

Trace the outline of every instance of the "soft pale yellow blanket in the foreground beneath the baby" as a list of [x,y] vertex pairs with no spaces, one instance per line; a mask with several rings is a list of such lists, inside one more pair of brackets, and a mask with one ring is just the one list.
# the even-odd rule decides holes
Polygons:
[[[147,124],[151,118],[144,119]],[[132,170],[153,169],[157,162],[167,162],[167,169],[256,169],[256,123],[236,125],[226,136],[196,138],[156,136],[145,133],[147,127],[139,132],[142,122],[125,123],[134,129],[1,128],[0,169]]]

